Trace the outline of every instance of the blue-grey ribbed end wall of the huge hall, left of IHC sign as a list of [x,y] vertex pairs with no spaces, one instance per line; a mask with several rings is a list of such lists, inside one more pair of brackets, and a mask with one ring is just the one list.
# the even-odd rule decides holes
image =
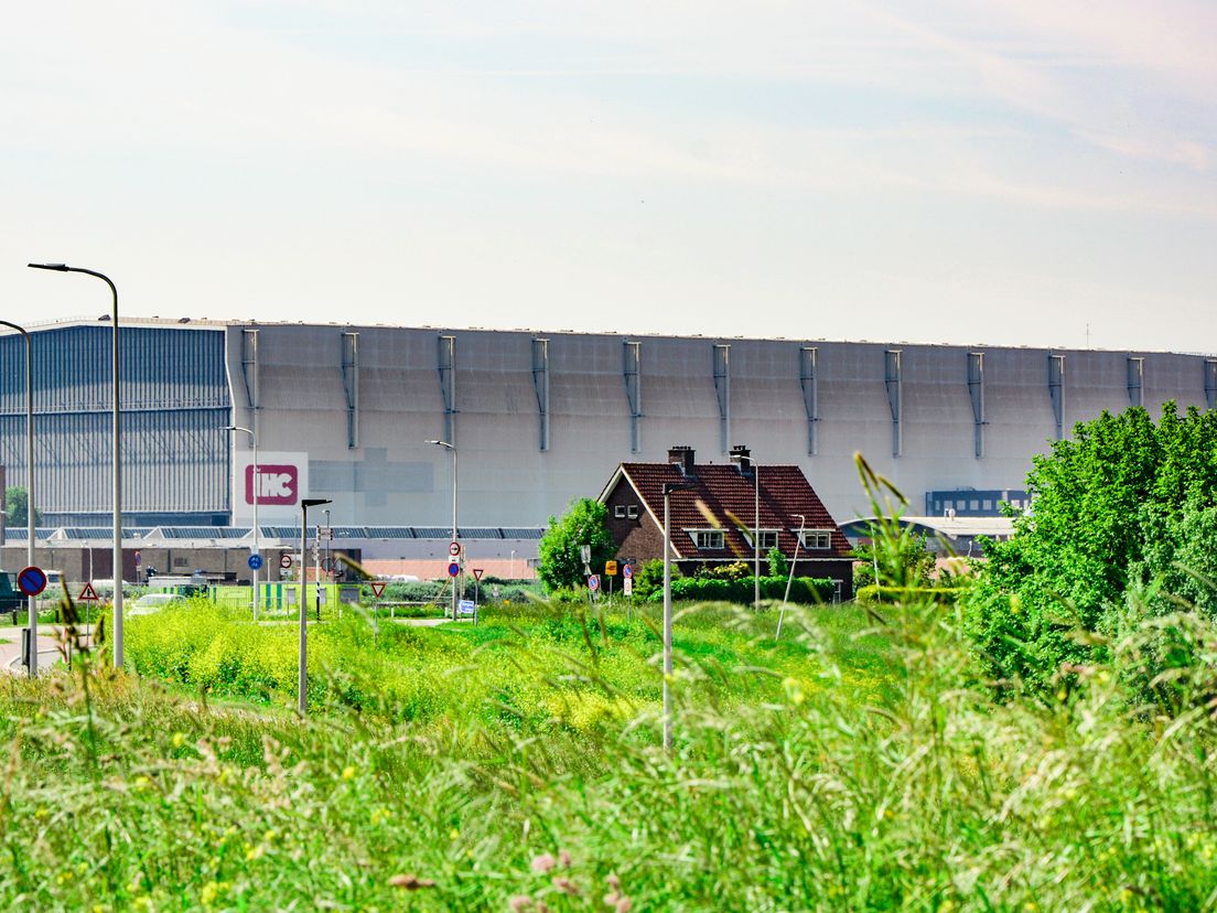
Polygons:
[[[111,329],[33,332],[37,505],[47,516],[111,510]],[[221,329],[123,326],[124,514],[225,514],[229,385]],[[24,345],[0,338],[0,461],[26,486]],[[62,521],[62,520],[61,520]]]

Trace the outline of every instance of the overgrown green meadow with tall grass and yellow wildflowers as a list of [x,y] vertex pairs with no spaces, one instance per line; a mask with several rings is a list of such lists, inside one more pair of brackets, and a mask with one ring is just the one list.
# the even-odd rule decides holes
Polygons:
[[[994,702],[949,605],[571,606],[310,637],[133,620],[128,673],[2,683],[0,900],[30,909],[1202,909],[1211,711]],[[1208,632],[1211,635],[1212,632]],[[1211,637],[1217,643],[1217,637]],[[140,674],[131,674],[138,671]],[[1208,688],[1198,671],[1196,688]],[[1199,693],[1199,691],[1198,691]],[[1210,691],[1215,693],[1215,691]]]

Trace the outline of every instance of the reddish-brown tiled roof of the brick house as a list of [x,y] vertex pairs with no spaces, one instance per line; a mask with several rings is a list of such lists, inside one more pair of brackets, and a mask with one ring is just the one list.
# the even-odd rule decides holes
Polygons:
[[[752,545],[740,533],[736,523],[753,527],[756,494],[751,477],[727,464],[707,464],[696,466],[696,476],[685,477],[680,470],[669,463],[623,463],[622,472],[638,491],[657,520],[663,522],[663,484],[666,482],[691,482],[689,491],[672,493],[672,543],[685,559],[722,559],[738,556],[752,558]],[[812,488],[798,466],[762,465],[761,474],[761,528],[778,530],[778,548],[790,556],[795,551],[795,531],[798,530],[798,517],[807,517],[808,530],[831,530],[832,548],[808,551],[800,549],[803,556],[847,558],[852,551],[845,533],[829,514],[819,495]],[[703,505],[714,519],[711,521],[699,509]],[[731,520],[730,515],[734,515]],[[708,530],[719,526],[725,533],[727,548],[699,551],[688,536],[678,534],[677,530]]]

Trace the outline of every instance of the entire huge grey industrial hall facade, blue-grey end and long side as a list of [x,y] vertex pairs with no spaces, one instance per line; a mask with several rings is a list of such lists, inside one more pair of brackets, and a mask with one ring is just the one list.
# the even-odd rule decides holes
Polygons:
[[[33,331],[45,526],[108,522],[106,321]],[[863,453],[927,493],[1021,489],[1072,425],[1131,404],[1217,402],[1217,359],[1176,353],[436,327],[133,320],[122,326],[124,516],[139,526],[298,521],[534,527],[618,463],[673,442],[802,469],[834,516],[868,512]],[[24,353],[0,337],[0,463],[24,486]],[[258,478],[252,472],[256,431]],[[269,481],[268,481],[269,480]],[[269,492],[269,494],[268,494]]]

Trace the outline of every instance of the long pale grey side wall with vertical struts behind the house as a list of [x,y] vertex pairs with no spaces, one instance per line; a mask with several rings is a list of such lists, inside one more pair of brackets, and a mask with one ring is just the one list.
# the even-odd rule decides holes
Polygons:
[[[450,455],[425,441],[449,433],[462,526],[544,523],[572,497],[598,494],[618,461],[662,460],[675,443],[699,461],[745,443],[762,464],[797,464],[841,519],[865,510],[856,450],[914,505],[930,489],[1021,488],[1031,456],[1056,436],[1054,397],[1067,433],[1137,399],[1155,414],[1166,399],[1205,408],[1211,370],[1202,357],[1161,353],[234,325],[237,424],[252,421],[247,329],[259,336],[259,447],[307,452],[310,494],[332,498],[341,523],[447,525]],[[628,343],[638,343],[633,379]],[[969,387],[974,355],[983,355],[982,409]],[[1053,357],[1064,358],[1055,388]]]

